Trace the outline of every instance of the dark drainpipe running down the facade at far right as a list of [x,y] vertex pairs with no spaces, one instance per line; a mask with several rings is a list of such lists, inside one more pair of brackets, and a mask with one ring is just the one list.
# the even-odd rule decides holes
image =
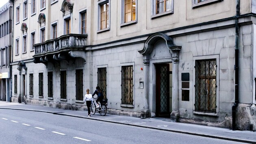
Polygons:
[[236,43],[235,43],[235,102],[232,106],[232,130],[236,130],[236,107],[238,106],[238,89],[239,89],[239,63],[238,63],[238,46],[239,46],[239,25],[238,17],[240,16],[240,0],[236,0],[236,16],[235,28],[236,28]]

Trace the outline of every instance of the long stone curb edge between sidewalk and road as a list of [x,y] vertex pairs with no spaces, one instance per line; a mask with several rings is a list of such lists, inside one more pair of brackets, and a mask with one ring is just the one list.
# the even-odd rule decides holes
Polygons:
[[89,117],[85,117],[85,116],[62,114],[62,113],[58,113],[58,112],[49,112],[49,111],[43,111],[43,110],[20,109],[20,108],[4,108],[4,107],[0,107],[0,109],[24,110],[24,111],[33,111],[33,112],[46,112],[46,113],[62,115],[62,116],[71,116],[71,117],[77,117],[77,118],[82,118],[82,119],[90,119],[90,120],[94,120],[94,121],[104,121],[104,122],[108,122],[108,123],[117,123],[117,124],[121,124],[121,125],[130,125],[130,126],[135,126],[135,127],[143,127],[143,128],[156,129],[156,130],[161,130],[161,131],[170,131],[170,132],[175,132],[175,133],[183,133],[183,134],[189,134],[189,135],[194,135],[194,136],[202,136],[202,137],[207,137],[207,138],[217,138],[217,139],[221,139],[221,140],[229,140],[229,141],[234,141],[234,142],[244,142],[244,143],[249,143],[249,144],[256,144],[256,141],[252,141],[252,140],[244,140],[244,139],[238,139],[238,138],[228,138],[228,137],[223,137],[223,136],[206,135],[206,134],[200,134],[200,133],[191,133],[191,132],[177,131],[177,130],[171,130],[171,129],[161,129],[161,128],[157,128],[157,127],[150,127],[150,126],[135,125],[135,124],[130,124],[130,123],[121,123],[121,122],[115,122],[115,121],[95,119],[95,118],[92,118],[92,117],[89,118]]

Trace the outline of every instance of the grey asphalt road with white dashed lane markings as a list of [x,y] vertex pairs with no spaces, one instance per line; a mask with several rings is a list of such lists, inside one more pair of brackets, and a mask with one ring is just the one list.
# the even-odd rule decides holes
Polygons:
[[239,142],[227,140],[60,116],[44,112],[0,109],[0,144],[67,143],[239,144]]

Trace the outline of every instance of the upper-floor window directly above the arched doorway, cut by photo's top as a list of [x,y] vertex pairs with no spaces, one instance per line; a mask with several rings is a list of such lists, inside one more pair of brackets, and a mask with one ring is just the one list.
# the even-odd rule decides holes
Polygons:
[[173,13],[173,0],[153,0],[153,13],[151,18]]

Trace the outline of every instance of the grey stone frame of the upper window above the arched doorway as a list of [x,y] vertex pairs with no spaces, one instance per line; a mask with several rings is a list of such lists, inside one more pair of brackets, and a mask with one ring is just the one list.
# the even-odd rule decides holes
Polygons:
[[[156,2],[157,0],[152,0],[151,1],[151,19],[154,19],[154,18],[157,18],[157,17],[162,17],[162,16],[165,16],[165,15],[170,15],[170,14],[173,14],[174,13],[174,0],[170,0],[171,1],[171,10],[170,11],[165,11],[165,12],[162,12],[162,13],[158,13],[156,14]],[[166,9],[166,7],[165,7]]]

